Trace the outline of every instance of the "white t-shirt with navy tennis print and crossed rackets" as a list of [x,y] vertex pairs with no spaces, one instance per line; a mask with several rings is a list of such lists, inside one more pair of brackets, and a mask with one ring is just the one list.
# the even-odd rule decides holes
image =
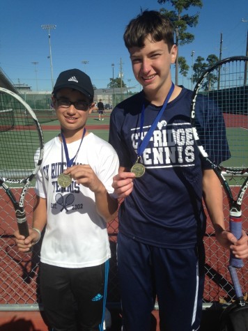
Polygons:
[[[69,157],[77,154],[81,140],[67,144]],[[47,226],[40,261],[64,268],[100,265],[110,258],[107,224],[95,208],[95,194],[72,180],[59,186],[57,178],[67,168],[63,144],[55,137],[45,144],[36,180],[36,194],[47,199]],[[109,194],[118,173],[118,156],[106,141],[89,133],[73,164],[88,164]]]

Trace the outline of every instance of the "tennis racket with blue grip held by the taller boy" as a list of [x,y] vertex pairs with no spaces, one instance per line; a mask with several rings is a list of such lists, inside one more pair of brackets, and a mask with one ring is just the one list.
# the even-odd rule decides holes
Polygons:
[[[200,77],[192,95],[194,140],[217,174],[229,204],[229,229],[242,236],[242,199],[248,186],[248,85],[247,56],[233,56],[215,63]],[[228,176],[239,176],[238,194]],[[237,298],[242,298],[235,268],[241,259],[232,254],[228,269]]]

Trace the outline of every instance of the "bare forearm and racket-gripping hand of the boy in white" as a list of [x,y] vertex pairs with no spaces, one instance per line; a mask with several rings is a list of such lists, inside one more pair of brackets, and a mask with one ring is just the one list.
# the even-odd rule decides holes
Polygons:
[[24,238],[19,231],[15,231],[15,241],[20,252],[28,252],[30,247],[38,243],[42,229],[47,223],[47,199],[36,196],[33,206],[33,226],[29,229],[29,236]]

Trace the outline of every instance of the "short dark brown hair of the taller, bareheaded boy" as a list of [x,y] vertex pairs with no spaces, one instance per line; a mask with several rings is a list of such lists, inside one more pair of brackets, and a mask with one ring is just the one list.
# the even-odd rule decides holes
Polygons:
[[174,45],[173,24],[155,10],[144,10],[129,22],[123,36],[125,47],[144,47],[148,35],[155,42],[164,40],[169,51]]

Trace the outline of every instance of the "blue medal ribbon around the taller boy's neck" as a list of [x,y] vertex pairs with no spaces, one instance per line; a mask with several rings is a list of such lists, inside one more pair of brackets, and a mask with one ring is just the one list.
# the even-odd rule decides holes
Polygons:
[[141,154],[144,153],[146,146],[148,145],[148,142],[150,141],[150,137],[152,137],[152,134],[157,126],[157,123],[160,121],[160,118],[164,112],[164,109],[166,109],[166,106],[169,102],[169,98],[171,98],[171,95],[174,91],[174,84],[171,84],[171,88],[169,90],[169,93],[166,96],[166,99],[164,100],[164,104],[162,105],[162,108],[160,109],[160,112],[157,114],[155,120],[153,121],[153,124],[150,126],[150,129],[146,133],[143,141],[141,142],[141,134],[143,133],[143,127],[144,127],[144,118],[145,118],[145,105],[143,105],[142,111],[141,111],[141,121],[140,121],[140,130],[139,130],[139,142],[138,142],[138,148],[137,148],[137,155],[138,158],[141,156]]

